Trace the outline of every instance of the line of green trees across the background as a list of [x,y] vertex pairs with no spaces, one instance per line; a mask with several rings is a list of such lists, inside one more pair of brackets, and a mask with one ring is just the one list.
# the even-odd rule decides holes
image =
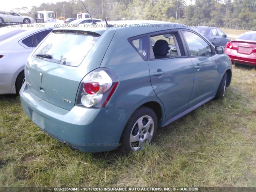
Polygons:
[[[93,18],[109,20],[162,20],[187,25],[256,29],[256,0],[83,0]],[[86,12],[81,0],[42,3],[40,6],[16,8],[35,17],[40,10],[57,12],[72,18]]]

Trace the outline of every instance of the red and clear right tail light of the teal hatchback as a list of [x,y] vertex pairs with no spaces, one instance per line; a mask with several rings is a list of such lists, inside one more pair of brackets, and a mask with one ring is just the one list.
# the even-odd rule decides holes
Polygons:
[[118,83],[118,78],[107,68],[98,68],[90,72],[79,85],[76,105],[105,107]]

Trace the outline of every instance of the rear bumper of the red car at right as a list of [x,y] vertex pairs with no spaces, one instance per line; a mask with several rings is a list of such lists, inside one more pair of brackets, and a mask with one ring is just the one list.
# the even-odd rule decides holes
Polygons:
[[230,57],[232,62],[245,64],[245,65],[256,65],[256,53],[250,55],[238,53],[236,50],[232,50],[225,47],[225,53]]

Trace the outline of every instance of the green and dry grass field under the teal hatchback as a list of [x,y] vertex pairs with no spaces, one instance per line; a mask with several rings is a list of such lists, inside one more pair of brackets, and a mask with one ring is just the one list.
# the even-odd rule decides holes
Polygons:
[[159,128],[128,156],[72,151],[0,96],[0,186],[256,186],[256,71],[233,66],[224,100]]

